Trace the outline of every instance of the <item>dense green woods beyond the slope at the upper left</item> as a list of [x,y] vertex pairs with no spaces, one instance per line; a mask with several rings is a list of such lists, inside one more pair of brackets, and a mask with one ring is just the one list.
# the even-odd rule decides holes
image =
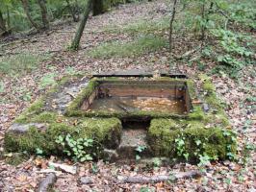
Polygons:
[[[48,22],[61,18],[79,21],[86,1],[82,0],[2,0],[0,6],[0,35],[49,28]],[[95,0],[93,14],[107,12],[122,0]]]

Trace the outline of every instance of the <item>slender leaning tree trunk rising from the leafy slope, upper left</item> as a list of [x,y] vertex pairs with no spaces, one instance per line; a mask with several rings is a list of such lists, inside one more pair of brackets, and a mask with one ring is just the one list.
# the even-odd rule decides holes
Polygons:
[[87,0],[87,2],[86,2],[83,18],[81,20],[79,28],[78,28],[78,30],[76,32],[76,35],[75,35],[75,37],[74,37],[74,39],[71,43],[71,46],[70,46],[71,50],[78,50],[80,40],[81,40],[81,37],[83,35],[84,29],[85,29],[85,26],[87,24],[87,20],[88,20],[88,17],[89,17],[91,2],[92,2],[92,0]]

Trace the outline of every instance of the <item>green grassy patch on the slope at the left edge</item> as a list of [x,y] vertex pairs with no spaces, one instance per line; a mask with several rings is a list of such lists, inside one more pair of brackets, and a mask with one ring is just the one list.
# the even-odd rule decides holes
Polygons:
[[18,54],[0,58],[0,73],[16,75],[31,72],[38,67],[43,57],[35,54]]

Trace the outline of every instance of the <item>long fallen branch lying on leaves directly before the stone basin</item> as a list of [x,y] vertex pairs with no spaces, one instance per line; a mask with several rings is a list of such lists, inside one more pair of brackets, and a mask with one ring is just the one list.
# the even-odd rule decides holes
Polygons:
[[150,183],[150,182],[161,182],[167,180],[181,180],[189,178],[200,178],[202,177],[201,172],[199,171],[190,171],[190,172],[181,172],[173,175],[160,175],[152,177],[118,177],[117,183]]

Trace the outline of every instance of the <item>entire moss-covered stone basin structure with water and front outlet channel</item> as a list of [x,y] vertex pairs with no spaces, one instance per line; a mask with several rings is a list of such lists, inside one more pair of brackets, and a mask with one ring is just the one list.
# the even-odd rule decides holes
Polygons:
[[[70,135],[74,140],[95,141],[97,146],[86,152],[95,159],[119,162],[152,156],[226,159],[236,153],[236,135],[210,78],[198,76],[200,86],[195,87],[195,80],[183,76],[145,74],[72,77],[57,85],[16,118],[6,132],[6,150],[33,154],[40,149],[46,156],[65,156],[66,146],[56,140]],[[74,90],[75,85],[78,91],[70,95],[68,87]],[[65,103],[61,101],[67,97]]]

